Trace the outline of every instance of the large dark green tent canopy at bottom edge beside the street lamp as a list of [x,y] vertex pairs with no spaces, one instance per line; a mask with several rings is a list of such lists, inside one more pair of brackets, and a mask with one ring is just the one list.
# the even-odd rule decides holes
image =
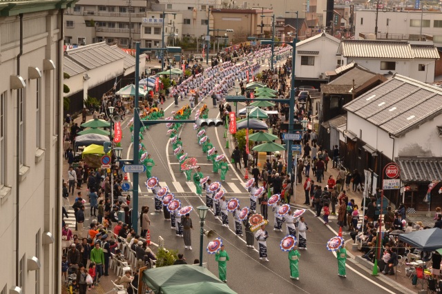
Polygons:
[[236,293],[208,269],[189,264],[150,268],[142,279],[157,294]]

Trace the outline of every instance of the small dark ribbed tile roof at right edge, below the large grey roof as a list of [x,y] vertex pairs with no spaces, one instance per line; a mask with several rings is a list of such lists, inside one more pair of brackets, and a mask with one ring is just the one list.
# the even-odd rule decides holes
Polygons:
[[442,157],[398,157],[403,182],[442,180]]

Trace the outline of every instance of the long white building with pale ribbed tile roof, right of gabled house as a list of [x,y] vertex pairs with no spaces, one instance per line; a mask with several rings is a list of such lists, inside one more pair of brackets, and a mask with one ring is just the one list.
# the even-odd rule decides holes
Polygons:
[[430,41],[343,40],[338,55],[342,64],[354,61],[372,72],[397,72],[424,83],[434,81],[439,59],[439,52]]

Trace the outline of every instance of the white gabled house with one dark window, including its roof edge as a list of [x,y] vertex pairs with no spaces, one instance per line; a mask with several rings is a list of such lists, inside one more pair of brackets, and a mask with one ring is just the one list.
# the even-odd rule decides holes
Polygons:
[[336,68],[339,43],[325,32],[296,43],[296,80],[327,80],[325,72]]

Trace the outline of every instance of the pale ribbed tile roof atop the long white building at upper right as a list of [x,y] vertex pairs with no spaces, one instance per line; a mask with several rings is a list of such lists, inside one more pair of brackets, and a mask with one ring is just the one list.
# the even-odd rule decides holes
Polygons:
[[338,48],[344,57],[439,59],[433,43],[412,44],[408,41],[343,40]]

